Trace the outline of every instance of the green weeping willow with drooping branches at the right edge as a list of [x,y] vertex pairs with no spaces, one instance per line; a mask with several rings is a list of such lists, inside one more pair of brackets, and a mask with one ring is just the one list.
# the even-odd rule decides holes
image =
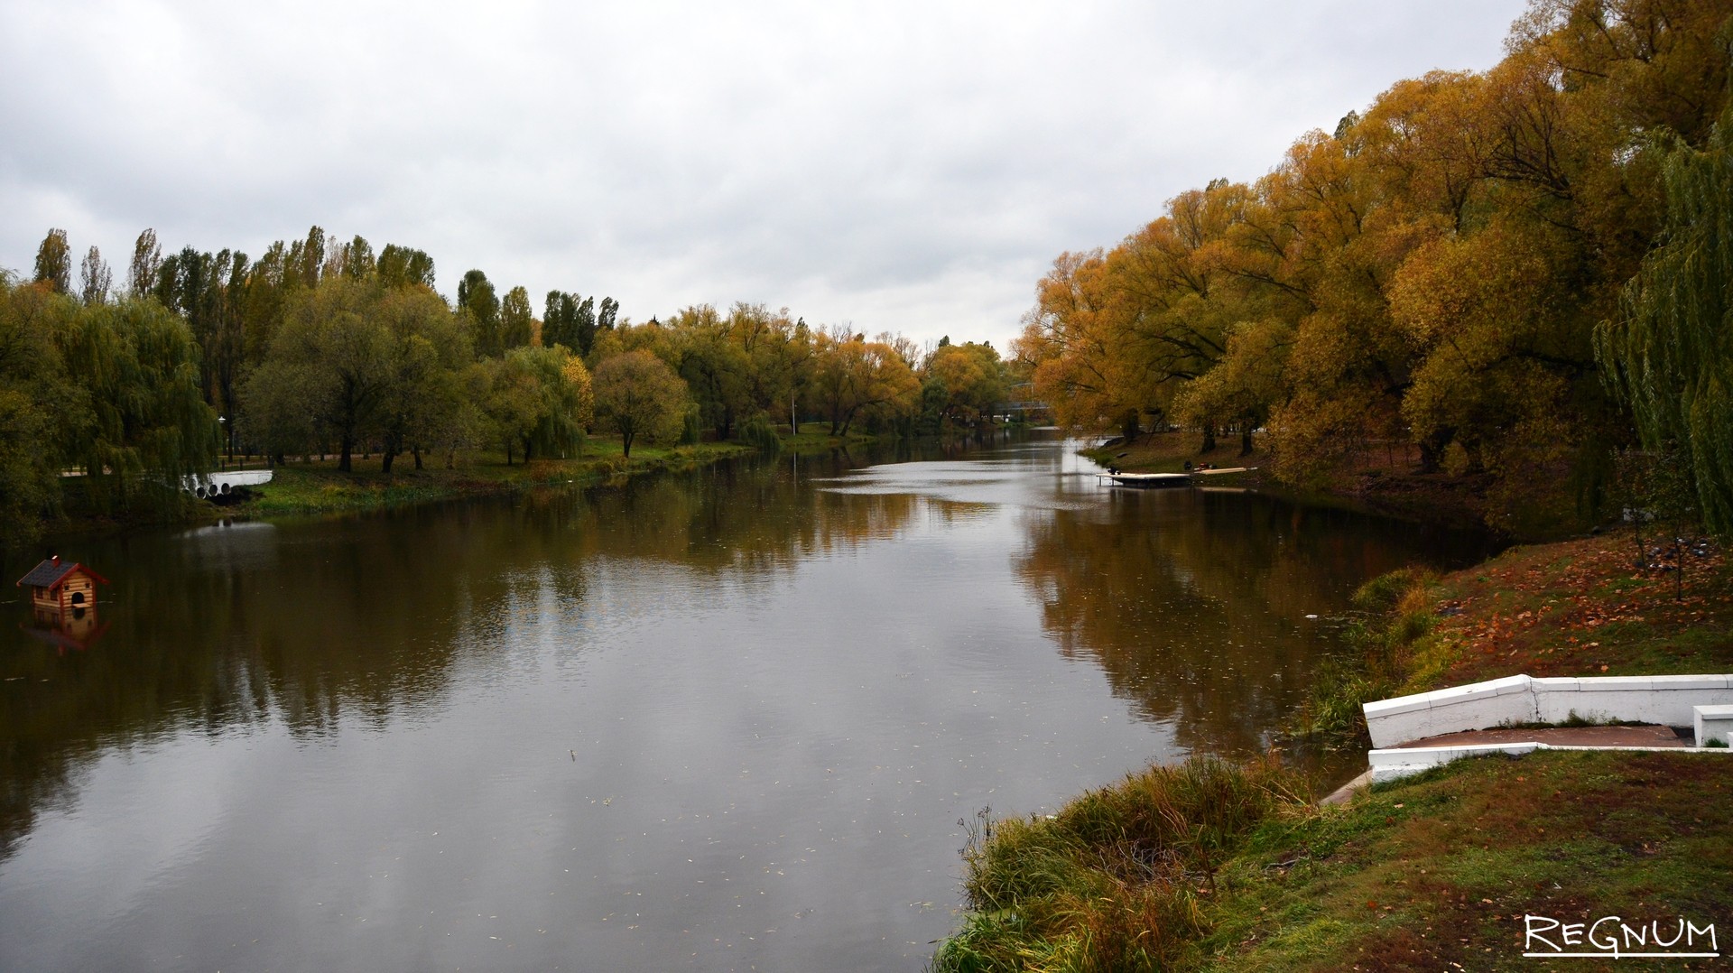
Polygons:
[[1704,524],[1733,536],[1733,111],[1702,149],[1678,144],[1662,170],[1664,243],[1596,331],[1613,394],[1643,446],[1691,465]]

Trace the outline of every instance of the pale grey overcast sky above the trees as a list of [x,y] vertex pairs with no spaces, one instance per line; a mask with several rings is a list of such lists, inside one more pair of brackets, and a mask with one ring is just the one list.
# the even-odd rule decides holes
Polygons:
[[1003,349],[1064,250],[1249,180],[1522,0],[0,0],[0,267],[312,224],[613,295]]

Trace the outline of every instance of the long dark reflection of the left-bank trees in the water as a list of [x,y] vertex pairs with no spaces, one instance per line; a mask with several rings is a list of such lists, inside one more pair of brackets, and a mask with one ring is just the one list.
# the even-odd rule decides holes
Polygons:
[[[839,496],[801,477],[847,456],[733,463],[622,487],[239,524],[87,545],[114,579],[92,649],[57,656],[0,628],[0,855],[35,808],[66,803],[78,767],[114,746],[281,718],[317,737],[435,702],[461,652],[510,647],[544,600],[591,598],[594,558],[738,571],[899,531],[908,496]],[[23,572],[23,571],[19,571]]]

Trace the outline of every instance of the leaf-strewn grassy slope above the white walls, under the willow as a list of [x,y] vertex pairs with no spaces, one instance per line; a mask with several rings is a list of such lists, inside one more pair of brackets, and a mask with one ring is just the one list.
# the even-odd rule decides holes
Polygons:
[[1709,543],[1639,546],[1629,531],[1506,550],[1466,571],[1399,571],[1355,595],[1301,730],[1362,739],[1360,704],[1525,673],[1733,671],[1733,569]]

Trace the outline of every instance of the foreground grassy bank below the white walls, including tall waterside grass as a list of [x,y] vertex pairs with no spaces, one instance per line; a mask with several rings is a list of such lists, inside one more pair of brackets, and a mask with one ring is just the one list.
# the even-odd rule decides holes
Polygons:
[[1194,758],[972,839],[970,912],[932,966],[1506,970],[1532,963],[1525,914],[1726,935],[1730,791],[1733,756],[1555,751],[1315,806],[1272,765]]

